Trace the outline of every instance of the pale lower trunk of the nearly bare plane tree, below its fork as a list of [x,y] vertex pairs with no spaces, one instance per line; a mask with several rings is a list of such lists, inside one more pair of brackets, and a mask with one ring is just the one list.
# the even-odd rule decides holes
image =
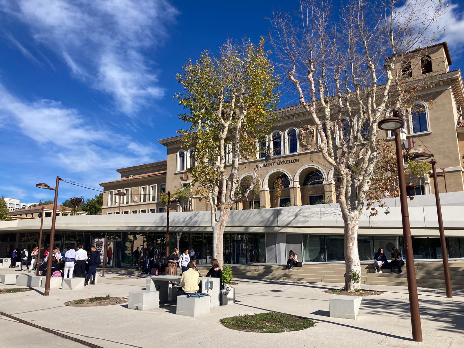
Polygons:
[[[350,217],[345,221],[345,289],[353,292],[361,289],[361,263],[358,253],[359,217]],[[357,276],[354,275],[356,274]],[[355,279],[355,278],[358,279]],[[357,281],[356,281],[357,280]]]

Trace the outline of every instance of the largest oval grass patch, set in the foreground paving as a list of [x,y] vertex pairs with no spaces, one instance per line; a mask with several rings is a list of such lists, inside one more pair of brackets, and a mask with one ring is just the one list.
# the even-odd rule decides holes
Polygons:
[[266,312],[243,316],[231,316],[219,321],[226,328],[249,332],[288,332],[308,329],[316,324],[310,319]]

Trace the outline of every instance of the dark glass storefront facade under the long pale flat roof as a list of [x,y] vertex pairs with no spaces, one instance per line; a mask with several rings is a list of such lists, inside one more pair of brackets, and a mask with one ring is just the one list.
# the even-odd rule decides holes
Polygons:
[[[86,251],[94,244],[94,238],[107,236],[107,248],[111,248],[112,259],[109,267],[135,266],[134,251],[139,248],[139,257],[148,251],[149,257],[155,254],[163,255],[166,245],[166,235],[162,232],[100,232],[100,231],[57,231],[54,246],[60,251],[70,245],[82,244]],[[279,237],[280,236],[280,237]],[[0,256],[9,257],[13,248],[26,247],[29,252],[37,245],[38,232],[19,232],[0,234]],[[267,241],[267,243],[266,243]],[[49,245],[50,232],[45,232],[42,245]],[[277,248],[277,244],[279,244]],[[197,264],[209,264],[213,258],[213,234],[203,232],[172,232],[169,234],[169,250],[176,246],[180,250],[188,248],[194,252]],[[464,238],[446,238],[449,258],[464,258]],[[374,260],[374,254],[383,248],[387,258],[396,246],[404,253],[403,238],[400,236],[358,236],[358,251],[361,261]],[[277,249],[280,250],[280,260],[287,257],[293,250],[304,263],[309,262],[342,262],[344,261],[343,235],[317,234],[276,234],[276,233],[225,233],[224,262],[228,264],[276,263],[279,260]],[[414,259],[439,259],[442,257],[440,239],[438,237],[412,237]],[[267,255],[266,255],[267,253]],[[300,256],[301,255],[301,256]]]

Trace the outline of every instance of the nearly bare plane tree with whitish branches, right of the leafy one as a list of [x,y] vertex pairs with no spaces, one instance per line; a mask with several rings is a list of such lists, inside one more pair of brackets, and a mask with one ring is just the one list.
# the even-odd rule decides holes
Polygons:
[[426,86],[408,70],[418,47],[433,43],[431,27],[441,13],[441,4],[430,11],[426,0],[398,4],[350,0],[335,13],[326,0],[301,0],[293,13],[279,10],[271,19],[277,69],[314,122],[322,157],[336,173],[348,291],[361,284],[358,223],[379,155],[377,123]]

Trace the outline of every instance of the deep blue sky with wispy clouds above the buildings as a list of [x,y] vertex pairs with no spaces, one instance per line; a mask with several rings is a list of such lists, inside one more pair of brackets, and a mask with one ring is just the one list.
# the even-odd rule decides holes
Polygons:
[[[227,36],[258,42],[278,6],[297,3],[0,0],[0,196],[49,200],[37,182],[97,187],[116,168],[165,159],[157,140],[182,127],[175,74]],[[461,68],[463,5],[443,24]],[[62,183],[59,202],[94,193]]]

